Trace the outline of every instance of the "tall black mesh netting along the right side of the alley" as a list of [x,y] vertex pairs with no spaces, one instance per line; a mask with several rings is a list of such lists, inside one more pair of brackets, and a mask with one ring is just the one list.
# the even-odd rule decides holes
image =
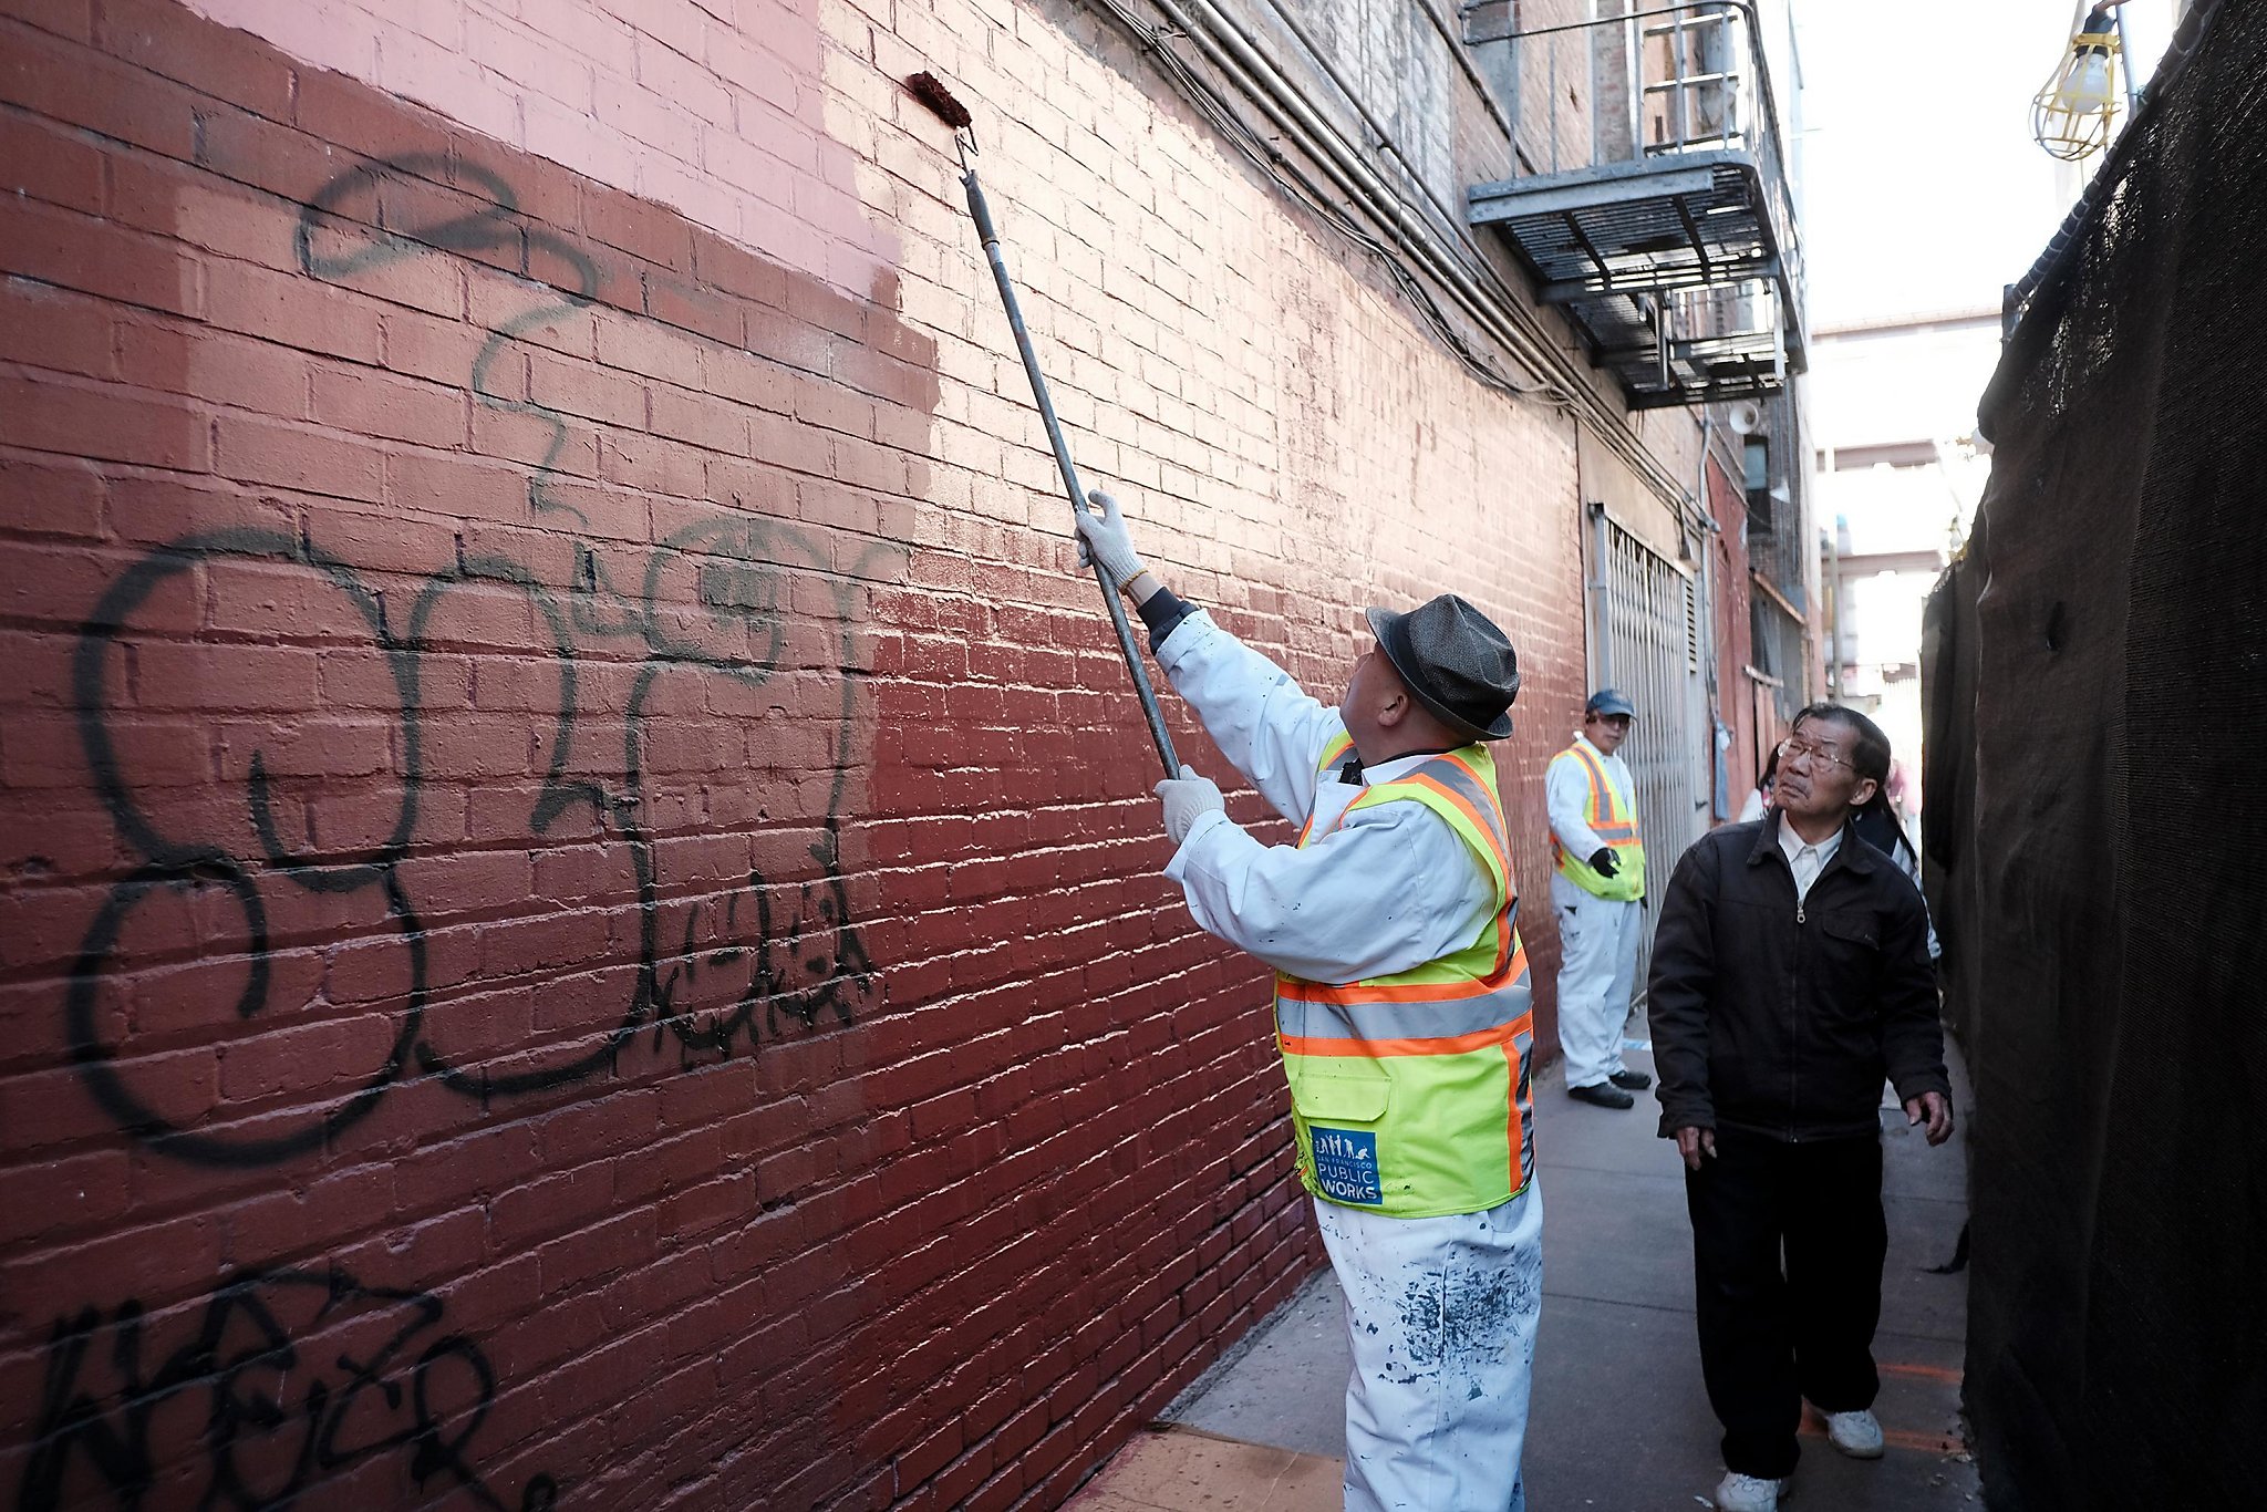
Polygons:
[[1927,619],[1997,1512],[2267,1507],[2267,2],[2167,75],[2006,347]]

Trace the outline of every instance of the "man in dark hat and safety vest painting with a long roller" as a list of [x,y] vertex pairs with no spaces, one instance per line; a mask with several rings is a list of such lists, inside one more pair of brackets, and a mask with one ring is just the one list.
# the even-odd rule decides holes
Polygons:
[[1512,646],[1453,594],[1369,610],[1376,648],[1328,707],[1161,585],[1118,503],[1093,503],[1086,551],[1172,687],[1299,825],[1263,846],[1211,780],[1156,787],[1190,914],[1276,970],[1299,1181],[1347,1292],[1347,1507],[1521,1512],[1544,1211],[1489,757],[1512,732]]

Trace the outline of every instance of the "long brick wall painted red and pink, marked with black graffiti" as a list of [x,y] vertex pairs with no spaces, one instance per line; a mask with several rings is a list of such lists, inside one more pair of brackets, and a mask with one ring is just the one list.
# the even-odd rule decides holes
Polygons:
[[1542,893],[1571,424],[1084,11],[911,9],[773,245],[297,7],[0,0],[16,1505],[1059,1505],[1317,1260],[914,66],[1183,592],[1324,696],[1512,630]]

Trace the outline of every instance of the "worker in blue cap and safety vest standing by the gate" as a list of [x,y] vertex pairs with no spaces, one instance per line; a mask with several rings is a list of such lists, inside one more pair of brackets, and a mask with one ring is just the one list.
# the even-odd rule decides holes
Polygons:
[[1653,1077],[1621,1063],[1621,1029],[1637,986],[1639,900],[1646,848],[1637,839],[1637,784],[1616,753],[1637,707],[1610,687],[1582,705],[1582,732],[1551,757],[1551,904],[1560,925],[1560,1052],[1566,1095],[1628,1108]]

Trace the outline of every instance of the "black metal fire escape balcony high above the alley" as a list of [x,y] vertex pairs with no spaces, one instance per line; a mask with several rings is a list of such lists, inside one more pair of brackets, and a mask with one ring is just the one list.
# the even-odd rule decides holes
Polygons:
[[[1467,9],[1483,25],[1485,11],[1517,7]],[[1802,245],[1752,5],[1474,41],[1510,50],[1514,120],[1548,154],[1544,172],[1471,188],[1467,213],[1566,311],[1630,406],[1784,390],[1805,367]],[[1587,161],[1564,168],[1562,143]]]

